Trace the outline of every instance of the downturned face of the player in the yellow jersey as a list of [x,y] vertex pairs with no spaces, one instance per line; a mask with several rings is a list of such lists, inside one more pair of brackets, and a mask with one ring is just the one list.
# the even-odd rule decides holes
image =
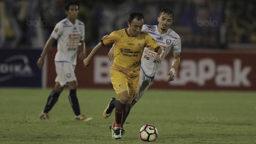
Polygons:
[[128,22],[129,32],[132,34],[131,36],[137,36],[138,34],[140,34],[140,30],[142,30],[143,23],[143,19],[138,21],[136,18],[133,19],[131,23]]

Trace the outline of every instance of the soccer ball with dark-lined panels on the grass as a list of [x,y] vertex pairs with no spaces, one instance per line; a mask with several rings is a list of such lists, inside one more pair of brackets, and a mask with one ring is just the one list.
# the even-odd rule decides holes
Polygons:
[[153,125],[143,125],[140,128],[140,139],[142,141],[155,141],[158,136],[158,131]]

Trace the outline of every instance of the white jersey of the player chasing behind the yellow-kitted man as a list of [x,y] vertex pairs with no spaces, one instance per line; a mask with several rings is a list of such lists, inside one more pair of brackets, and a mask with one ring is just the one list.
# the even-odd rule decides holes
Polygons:
[[[162,55],[162,59],[166,57],[166,55],[173,48],[173,51],[176,53],[181,52],[181,41],[180,36],[175,33],[172,29],[168,29],[167,33],[161,35],[157,30],[157,25],[143,25],[142,30],[149,35],[159,44],[159,46],[164,50]],[[154,57],[157,55],[157,52],[154,52],[147,47],[144,48],[142,53],[142,70],[143,73],[149,77],[153,78],[156,74],[157,69],[161,62],[158,62]]]

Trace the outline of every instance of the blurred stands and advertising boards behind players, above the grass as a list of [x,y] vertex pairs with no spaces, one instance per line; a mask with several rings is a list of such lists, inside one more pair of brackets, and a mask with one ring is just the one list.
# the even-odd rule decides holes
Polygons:
[[[84,22],[87,54],[102,36],[127,27],[129,13],[145,15],[145,24],[157,25],[161,8],[174,13],[171,28],[181,37],[181,63],[175,81],[167,83],[172,54],[162,62],[154,89],[256,89],[256,2],[239,0],[97,0],[78,1],[78,19]],[[47,65],[36,61],[55,24],[65,18],[62,0],[1,0],[0,86],[53,87],[54,43]],[[88,69],[76,66],[80,88],[111,88],[107,60],[109,47]],[[17,56],[18,55],[18,56]]]

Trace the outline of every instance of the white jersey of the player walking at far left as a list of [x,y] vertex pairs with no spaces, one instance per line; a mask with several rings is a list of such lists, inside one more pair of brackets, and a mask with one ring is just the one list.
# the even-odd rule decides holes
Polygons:
[[73,25],[67,18],[58,22],[51,34],[58,40],[55,62],[69,62],[76,65],[76,55],[80,41],[84,41],[84,23],[76,20]]

